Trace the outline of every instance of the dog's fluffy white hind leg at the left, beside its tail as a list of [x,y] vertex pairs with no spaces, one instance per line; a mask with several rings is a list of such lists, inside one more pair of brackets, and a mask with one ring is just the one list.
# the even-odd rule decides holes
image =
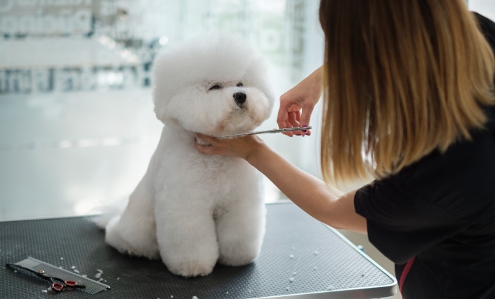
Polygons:
[[109,221],[105,241],[122,253],[158,259],[153,194],[146,187],[145,175],[122,215]]

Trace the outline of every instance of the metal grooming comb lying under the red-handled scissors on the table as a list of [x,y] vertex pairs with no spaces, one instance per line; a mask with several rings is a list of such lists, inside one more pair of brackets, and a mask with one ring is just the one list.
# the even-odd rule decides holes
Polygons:
[[27,259],[19,261],[15,264],[30,268],[31,270],[44,270],[46,275],[58,277],[62,280],[75,280],[77,284],[84,284],[86,286],[83,289],[78,288],[79,290],[90,293],[91,295],[94,295],[105,289],[110,289],[110,286],[108,286],[107,284],[102,284],[101,282],[90,280],[87,277],[77,275],[68,270],[61,269],[59,267],[53,266],[52,264],[45,263],[44,261],[40,261],[32,257],[28,257]]

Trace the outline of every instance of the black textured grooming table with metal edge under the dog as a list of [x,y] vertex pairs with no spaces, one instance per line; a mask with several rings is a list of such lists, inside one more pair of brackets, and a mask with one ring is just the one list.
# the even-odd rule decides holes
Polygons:
[[[162,261],[129,257],[105,244],[105,232],[91,217],[0,222],[0,298],[382,298],[397,281],[335,229],[292,203],[267,205],[261,255],[248,266],[217,265],[206,277],[169,273]],[[34,257],[111,289],[47,291],[36,276],[5,266]],[[292,279],[294,278],[294,279]]]

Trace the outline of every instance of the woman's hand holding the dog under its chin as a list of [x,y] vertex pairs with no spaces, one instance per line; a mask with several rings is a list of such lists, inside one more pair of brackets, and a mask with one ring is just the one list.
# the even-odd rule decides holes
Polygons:
[[222,156],[234,156],[248,160],[250,155],[265,144],[261,138],[248,135],[236,138],[215,138],[204,134],[197,134],[199,138],[210,145],[201,145],[196,142],[196,147],[203,154],[218,154]]

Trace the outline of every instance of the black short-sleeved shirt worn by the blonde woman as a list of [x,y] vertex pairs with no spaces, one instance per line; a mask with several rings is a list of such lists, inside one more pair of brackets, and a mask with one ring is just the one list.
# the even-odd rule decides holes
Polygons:
[[[475,15],[495,49],[494,22]],[[495,298],[495,106],[485,111],[489,121],[471,141],[354,197],[370,242],[396,264],[404,299]]]

